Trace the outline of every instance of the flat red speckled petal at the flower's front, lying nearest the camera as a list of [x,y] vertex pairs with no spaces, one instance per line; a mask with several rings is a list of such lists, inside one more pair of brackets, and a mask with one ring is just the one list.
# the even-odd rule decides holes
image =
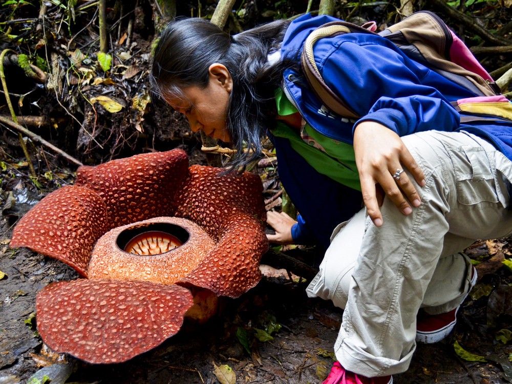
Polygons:
[[94,364],[117,363],[177,333],[193,304],[177,285],[119,280],[53,283],[36,298],[37,329],[56,352]]

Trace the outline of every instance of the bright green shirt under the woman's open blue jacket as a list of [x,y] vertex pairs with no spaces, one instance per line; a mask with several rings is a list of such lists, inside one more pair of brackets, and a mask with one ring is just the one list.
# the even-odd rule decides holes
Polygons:
[[[282,89],[276,91],[275,102],[280,116],[298,112]],[[299,132],[278,120],[276,127],[272,129],[272,134],[288,139],[293,150],[318,173],[350,188],[361,190],[353,145],[324,136],[307,123]]]

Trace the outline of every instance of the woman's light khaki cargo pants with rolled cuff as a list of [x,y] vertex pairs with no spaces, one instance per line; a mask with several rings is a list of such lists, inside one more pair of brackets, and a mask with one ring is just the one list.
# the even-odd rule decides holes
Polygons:
[[364,210],[340,224],[307,288],[345,309],[336,358],[368,377],[409,368],[419,308],[437,314],[463,301],[471,266],[458,252],[512,231],[512,162],[493,145],[465,132],[402,139],[425,175],[421,206],[404,216],[385,199],[382,227]]

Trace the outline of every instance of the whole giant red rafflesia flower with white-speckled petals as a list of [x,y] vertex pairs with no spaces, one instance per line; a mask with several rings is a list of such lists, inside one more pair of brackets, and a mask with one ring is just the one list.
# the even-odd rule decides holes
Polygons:
[[57,352],[128,360],[204,321],[218,296],[256,285],[268,248],[262,184],[250,173],[188,167],[185,152],[82,166],[16,225],[11,246],[73,267],[81,279],[36,297],[37,327]]

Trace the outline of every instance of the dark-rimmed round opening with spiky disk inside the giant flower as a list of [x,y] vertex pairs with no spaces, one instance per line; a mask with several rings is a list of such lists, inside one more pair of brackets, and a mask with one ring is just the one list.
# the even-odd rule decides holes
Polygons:
[[189,233],[178,225],[148,223],[122,231],[117,237],[117,245],[128,253],[156,255],[179,247],[189,237]]

